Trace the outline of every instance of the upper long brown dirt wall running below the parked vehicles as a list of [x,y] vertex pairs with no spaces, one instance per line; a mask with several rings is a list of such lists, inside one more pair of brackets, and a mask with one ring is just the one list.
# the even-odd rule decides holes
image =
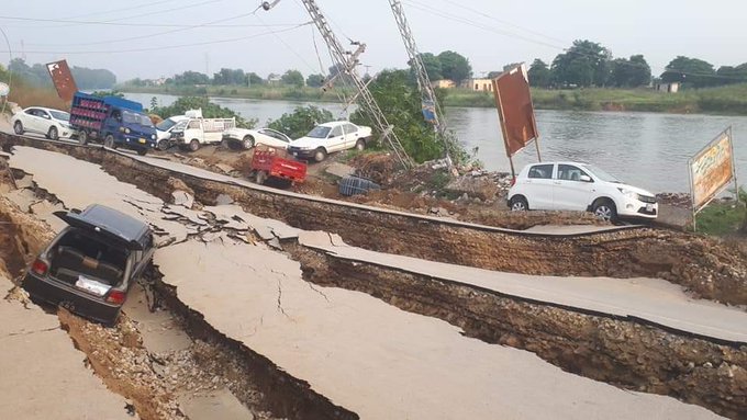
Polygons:
[[[57,149],[44,141],[10,137],[5,145],[8,140]],[[525,274],[664,277],[698,297],[747,304],[747,256],[717,239],[655,229],[567,238],[517,235],[208,181],[102,149],[58,150],[100,163],[119,180],[165,201],[171,189],[164,180],[174,178],[202,203],[213,205],[225,194],[249,213],[301,229],[335,232],[349,245],[374,251]]]

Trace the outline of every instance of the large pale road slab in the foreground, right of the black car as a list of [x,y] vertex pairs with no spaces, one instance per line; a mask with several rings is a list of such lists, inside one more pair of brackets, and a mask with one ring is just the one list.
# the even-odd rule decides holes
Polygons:
[[364,419],[717,417],[565,373],[366,294],[315,286],[264,246],[189,240],[159,250],[155,263],[218,331]]

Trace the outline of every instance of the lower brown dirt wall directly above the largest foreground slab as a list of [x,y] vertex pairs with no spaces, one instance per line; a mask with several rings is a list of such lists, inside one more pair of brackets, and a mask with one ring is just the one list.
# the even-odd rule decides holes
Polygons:
[[656,327],[537,305],[285,243],[304,277],[441,318],[467,336],[528,350],[582,376],[662,394],[740,419],[747,413],[747,348]]

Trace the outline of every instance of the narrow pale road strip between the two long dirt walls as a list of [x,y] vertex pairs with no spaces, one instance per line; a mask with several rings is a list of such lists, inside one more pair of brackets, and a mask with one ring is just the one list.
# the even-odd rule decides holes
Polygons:
[[336,235],[301,232],[299,242],[352,261],[467,284],[571,310],[633,318],[645,323],[735,345],[747,344],[747,311],[688,296],[658,279],[557,277],[501,273],[349,247]]

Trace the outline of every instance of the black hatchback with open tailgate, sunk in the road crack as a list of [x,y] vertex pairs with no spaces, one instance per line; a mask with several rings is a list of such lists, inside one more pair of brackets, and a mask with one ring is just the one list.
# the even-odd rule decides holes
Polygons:
[[34,300],[114,323],[153,258],[150,228],[100,204],[55,215],[68,226],[31,264],[23,288]]

